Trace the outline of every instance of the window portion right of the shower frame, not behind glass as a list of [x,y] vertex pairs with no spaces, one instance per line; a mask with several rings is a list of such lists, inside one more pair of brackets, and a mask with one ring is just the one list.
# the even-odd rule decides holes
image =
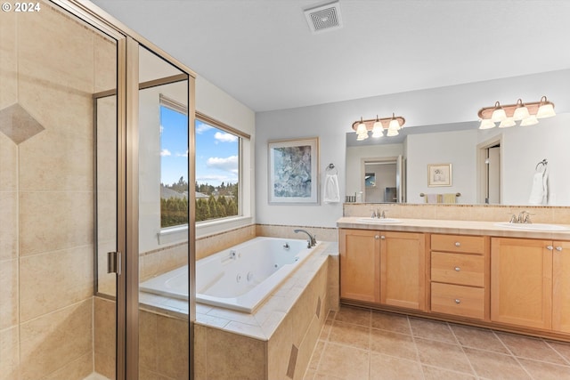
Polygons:
[[241,137],[196,117],[196,222],[240,214]]

